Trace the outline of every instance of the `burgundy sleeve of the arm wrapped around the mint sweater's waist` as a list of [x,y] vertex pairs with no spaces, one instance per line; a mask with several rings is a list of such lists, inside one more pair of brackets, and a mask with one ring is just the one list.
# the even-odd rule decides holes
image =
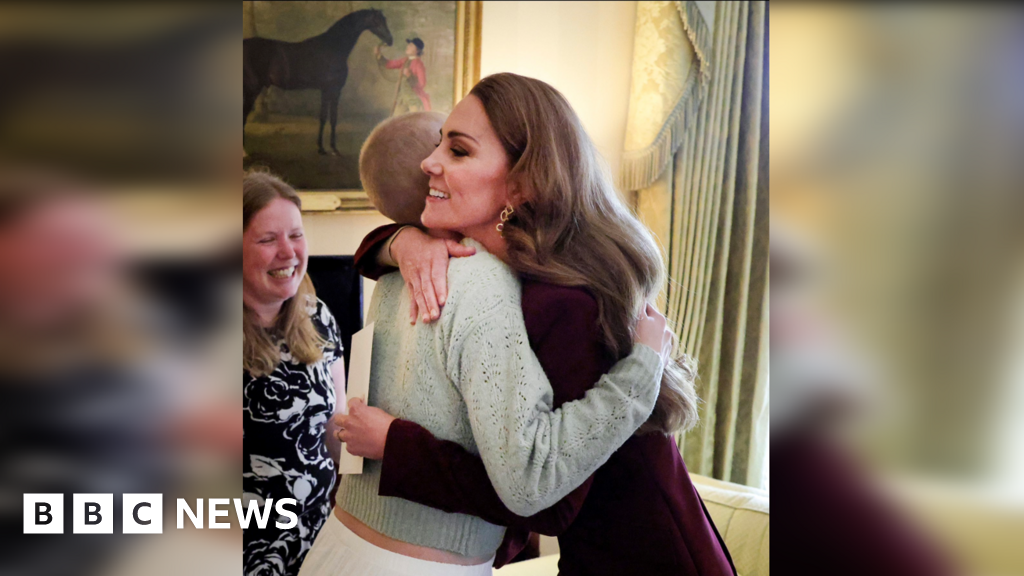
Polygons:
[[[552,378],[555,406],[583,398],[610,367],[600,349],[597,305],[577,290],[550,297],[523,287],[527,332],[538,359]],[[527,306],[525,300],[530,298]],[[538,333],[544,331],[545,333]],[[602,370],[603,369],[603,370]],[[454,442],[438,440],[419,424],[395,420],[384,445],[379,494],[419,502],[447,512],[479,517],[492,524],[549,536],[562,533],[575,519],[593,477],[555,505],[531,517],[509,510],[499,498],[483,461]]]

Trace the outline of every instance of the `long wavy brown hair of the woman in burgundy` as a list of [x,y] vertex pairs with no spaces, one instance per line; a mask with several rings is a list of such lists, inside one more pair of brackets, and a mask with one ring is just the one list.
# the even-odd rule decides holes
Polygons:
[[[519,274],[580,286],[597,299],[598,324],[617,359],[630,354],[639,315],[665,281],[650,232],[620,199],[572,107],[548,84],[515,74],[481,80],[483,104],[508,155],[515,214],[506,222],[508,263]],[[695,367],[670,362],[654,411],[638,434],[672,434],[697,421]]]

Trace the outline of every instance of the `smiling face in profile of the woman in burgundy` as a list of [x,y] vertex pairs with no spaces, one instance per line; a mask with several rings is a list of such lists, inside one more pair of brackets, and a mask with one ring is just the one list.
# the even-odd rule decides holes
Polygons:
[[430,176],[423,225],[458,232],[494,252],[496,230],[509,201],[509,159],[473,95],[455,107],[441,128],[440,145],[420,164]]

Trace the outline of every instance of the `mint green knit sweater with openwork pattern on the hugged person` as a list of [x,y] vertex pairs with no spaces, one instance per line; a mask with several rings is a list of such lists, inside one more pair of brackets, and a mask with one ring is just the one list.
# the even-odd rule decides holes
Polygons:
[[[647,419],[660,357],[637,344],[585,398],[552,410],[518,279],[481,245],[463,242],[477,253],[451,260],[450,295],[432,324],[410,324],[400,275],[378,281],[367,319],[376,324],[369,404],[479,454],[502,501],[530,516],[582,484]],[[379,460],[366,460],[361,475],[344,477],[338,505],[406,542],[470,557],[498,549],[503,527],[378,496],[380,471]]]

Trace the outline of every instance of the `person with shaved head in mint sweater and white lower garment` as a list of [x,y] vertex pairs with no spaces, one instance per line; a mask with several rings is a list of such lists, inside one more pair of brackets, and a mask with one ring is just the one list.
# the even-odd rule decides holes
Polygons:
[[[442,126],[444,118],[437,116],[389,119],[360,152],[360,177],[370,198],[396,221],[436,212],[436,207],[424,212],[432,201],[426,199],[428,177],[420,163]],[[593,475],[647,420],[672,333],[665,317],[645,307],[651,314],[637,323],[638,345],[588,382],[593,387],[587,398],[552,407],[552,385],[529,346],[520,282],[502,261],[493,231],[481,229],[507,197],[497,140],[490,150],[494,155],[464,173],[477,186],[460,196],[458,221],[438,220],[432,231],[464,233],[462,249],[475,250],[449,270],[452,292],[439,321],[409,322],[410,298],[400,275],[377,282],[367,315],[374,326],[367,402],[479,455],[502,470],[494,488],[510,507],[532,513]],[[377,460],[365,462],[362,474],[342,478],[334,515],[306,557],[302,576],[490,574],[504,526],[381,497],[380,478]]]

